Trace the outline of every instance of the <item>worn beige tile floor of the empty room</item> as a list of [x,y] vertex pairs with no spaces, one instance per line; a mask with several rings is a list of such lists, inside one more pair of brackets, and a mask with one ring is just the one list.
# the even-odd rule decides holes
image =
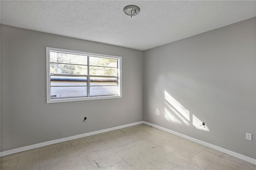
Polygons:
[[1,170],[256,170],[228,154],[136,125],[1,157]]

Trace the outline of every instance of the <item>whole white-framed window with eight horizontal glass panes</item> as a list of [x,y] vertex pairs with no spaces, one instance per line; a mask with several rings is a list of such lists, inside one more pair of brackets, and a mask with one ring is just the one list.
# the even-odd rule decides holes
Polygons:
[[122,97],[122,58],[46,47],[47,103]]

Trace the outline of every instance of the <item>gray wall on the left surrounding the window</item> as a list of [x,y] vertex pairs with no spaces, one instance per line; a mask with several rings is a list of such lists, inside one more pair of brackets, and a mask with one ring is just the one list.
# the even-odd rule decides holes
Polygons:
[[[122,98],[47,104],[46,46],[121,56]],[[1,25],[0,68],[1,151],[143,119],[143,51]]]

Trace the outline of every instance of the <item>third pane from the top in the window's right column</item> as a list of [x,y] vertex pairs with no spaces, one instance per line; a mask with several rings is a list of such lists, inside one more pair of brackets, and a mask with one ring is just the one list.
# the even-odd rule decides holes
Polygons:
[[90,77],[90,86],[117,85],[117,77]]

